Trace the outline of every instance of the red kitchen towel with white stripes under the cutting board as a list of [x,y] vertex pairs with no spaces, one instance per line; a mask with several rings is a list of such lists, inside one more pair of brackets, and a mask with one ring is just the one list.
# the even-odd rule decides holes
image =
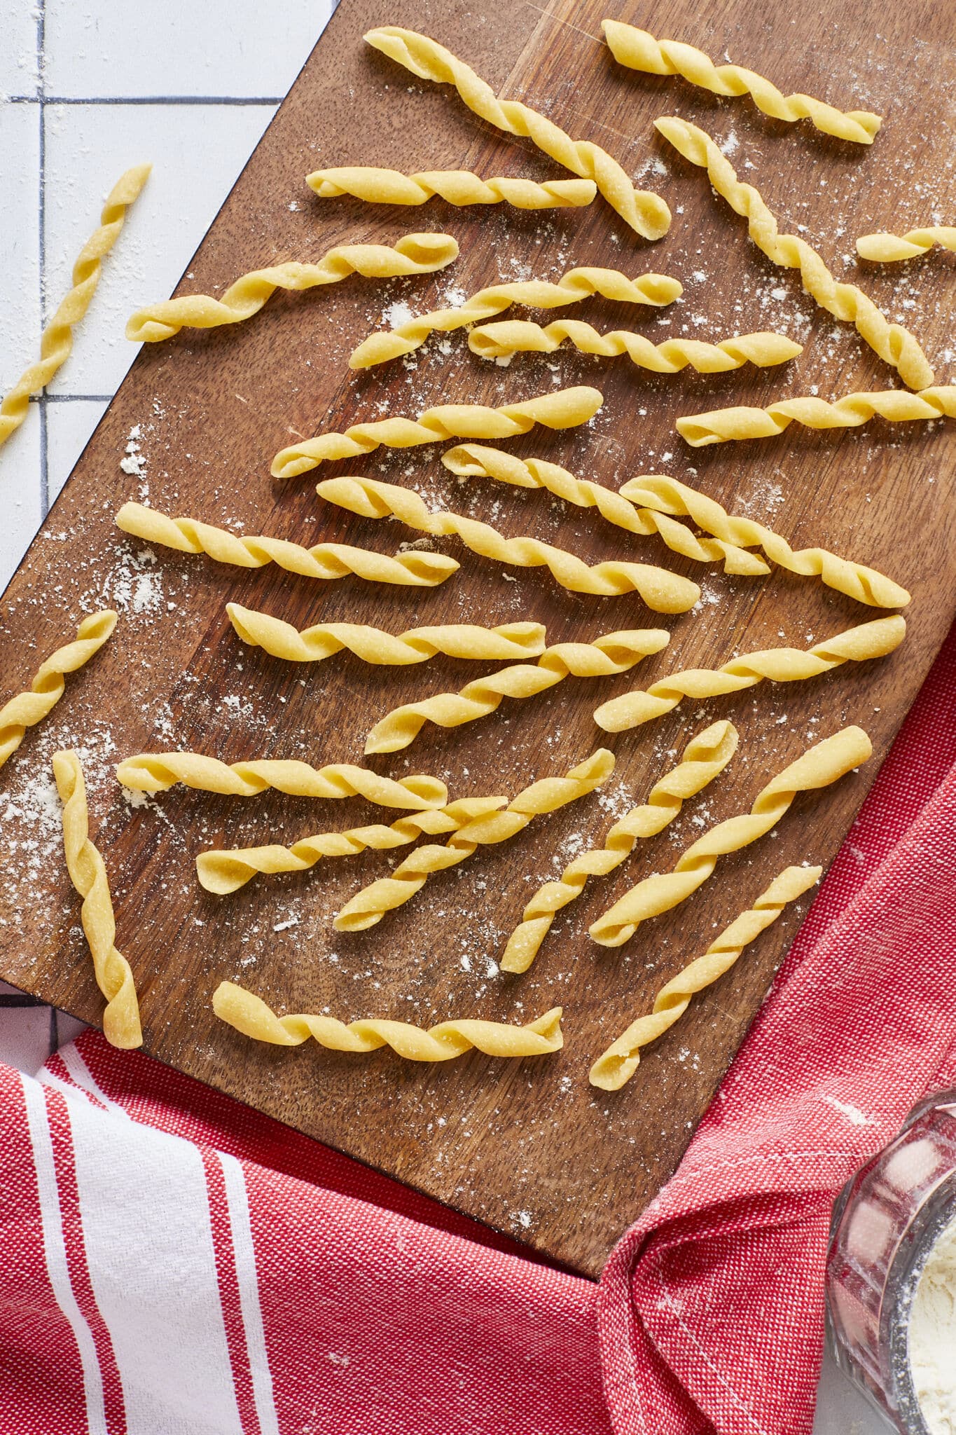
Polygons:
[[955,699],[956,634],[599,1287],[95,1033],[0,1068],[0,1431],[808,1431],[833,1195],[956,1072]]

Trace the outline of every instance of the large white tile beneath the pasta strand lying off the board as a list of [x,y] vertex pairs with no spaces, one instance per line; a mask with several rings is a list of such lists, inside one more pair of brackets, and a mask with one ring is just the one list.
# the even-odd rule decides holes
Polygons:
[[103,261],[73,354],[52,393],[113,393],[136,357],[129,314],[166,298],[275,113],[269,105],[47,105],[46,293],[69,288],[73,258],[123,169],[153,172]]

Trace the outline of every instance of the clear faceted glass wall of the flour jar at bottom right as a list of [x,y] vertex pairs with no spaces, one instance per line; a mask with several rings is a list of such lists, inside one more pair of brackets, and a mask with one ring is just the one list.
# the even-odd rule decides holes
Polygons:
[[956,1089],[913,1108],[846,1184],[830,1227],[830,1350],[904,1435],[929,1435],[910,1369],[910,1313],[926,1260],[955,1220]]

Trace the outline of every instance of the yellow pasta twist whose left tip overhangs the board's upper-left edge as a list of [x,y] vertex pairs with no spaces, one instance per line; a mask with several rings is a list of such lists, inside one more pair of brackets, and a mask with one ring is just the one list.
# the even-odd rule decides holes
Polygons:
[[433,274],[459,257],[450,234],[404,234],[390,244],[337,244],[317,264],[272,264],[252,270],[229,284],[221,298],[212,294],[183,294],[138,309],[126,323],[126,337],[156,344],[181,329],[218,329],[241,324],[262,309],[277,288],[302,293],[320,284],[338,284],[353,274],[364,278],[396,278]]

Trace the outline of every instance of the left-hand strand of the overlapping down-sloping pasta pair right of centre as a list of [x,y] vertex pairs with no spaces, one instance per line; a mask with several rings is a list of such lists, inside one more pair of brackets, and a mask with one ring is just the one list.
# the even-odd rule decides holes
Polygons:
[[[725,542],[724,535],[718,540],[698,538],[689,528],[669,517],[671,509],[655,512],[651,507],[635,508],[632,501],[622,498],[613,488],[575,478],[566,468],[549,464],[543,458],[520,459],[502,449],[484,448],[482,443],[459,443],[457,448],[444,451],[441,462],[459,478],[496,478],[503,484],[513,484],[516,488],[543,488],[578,508],[596,508],[609,524],[626,528],[628,532],[644,537],[659,534],[668,548],[679,552],[684,558],[694,558],[697,563],[722,561],[725,573],[747,574],[748,577],[770,573],[763,558],[732,542]],[[664,484],[671,482],[671,479],[654,478],[648,482]],[[674,509],[674,512],[677,511]],[[699,519],[697,521],[699,522]],[[701,527],[705,525],[701,524]]]

